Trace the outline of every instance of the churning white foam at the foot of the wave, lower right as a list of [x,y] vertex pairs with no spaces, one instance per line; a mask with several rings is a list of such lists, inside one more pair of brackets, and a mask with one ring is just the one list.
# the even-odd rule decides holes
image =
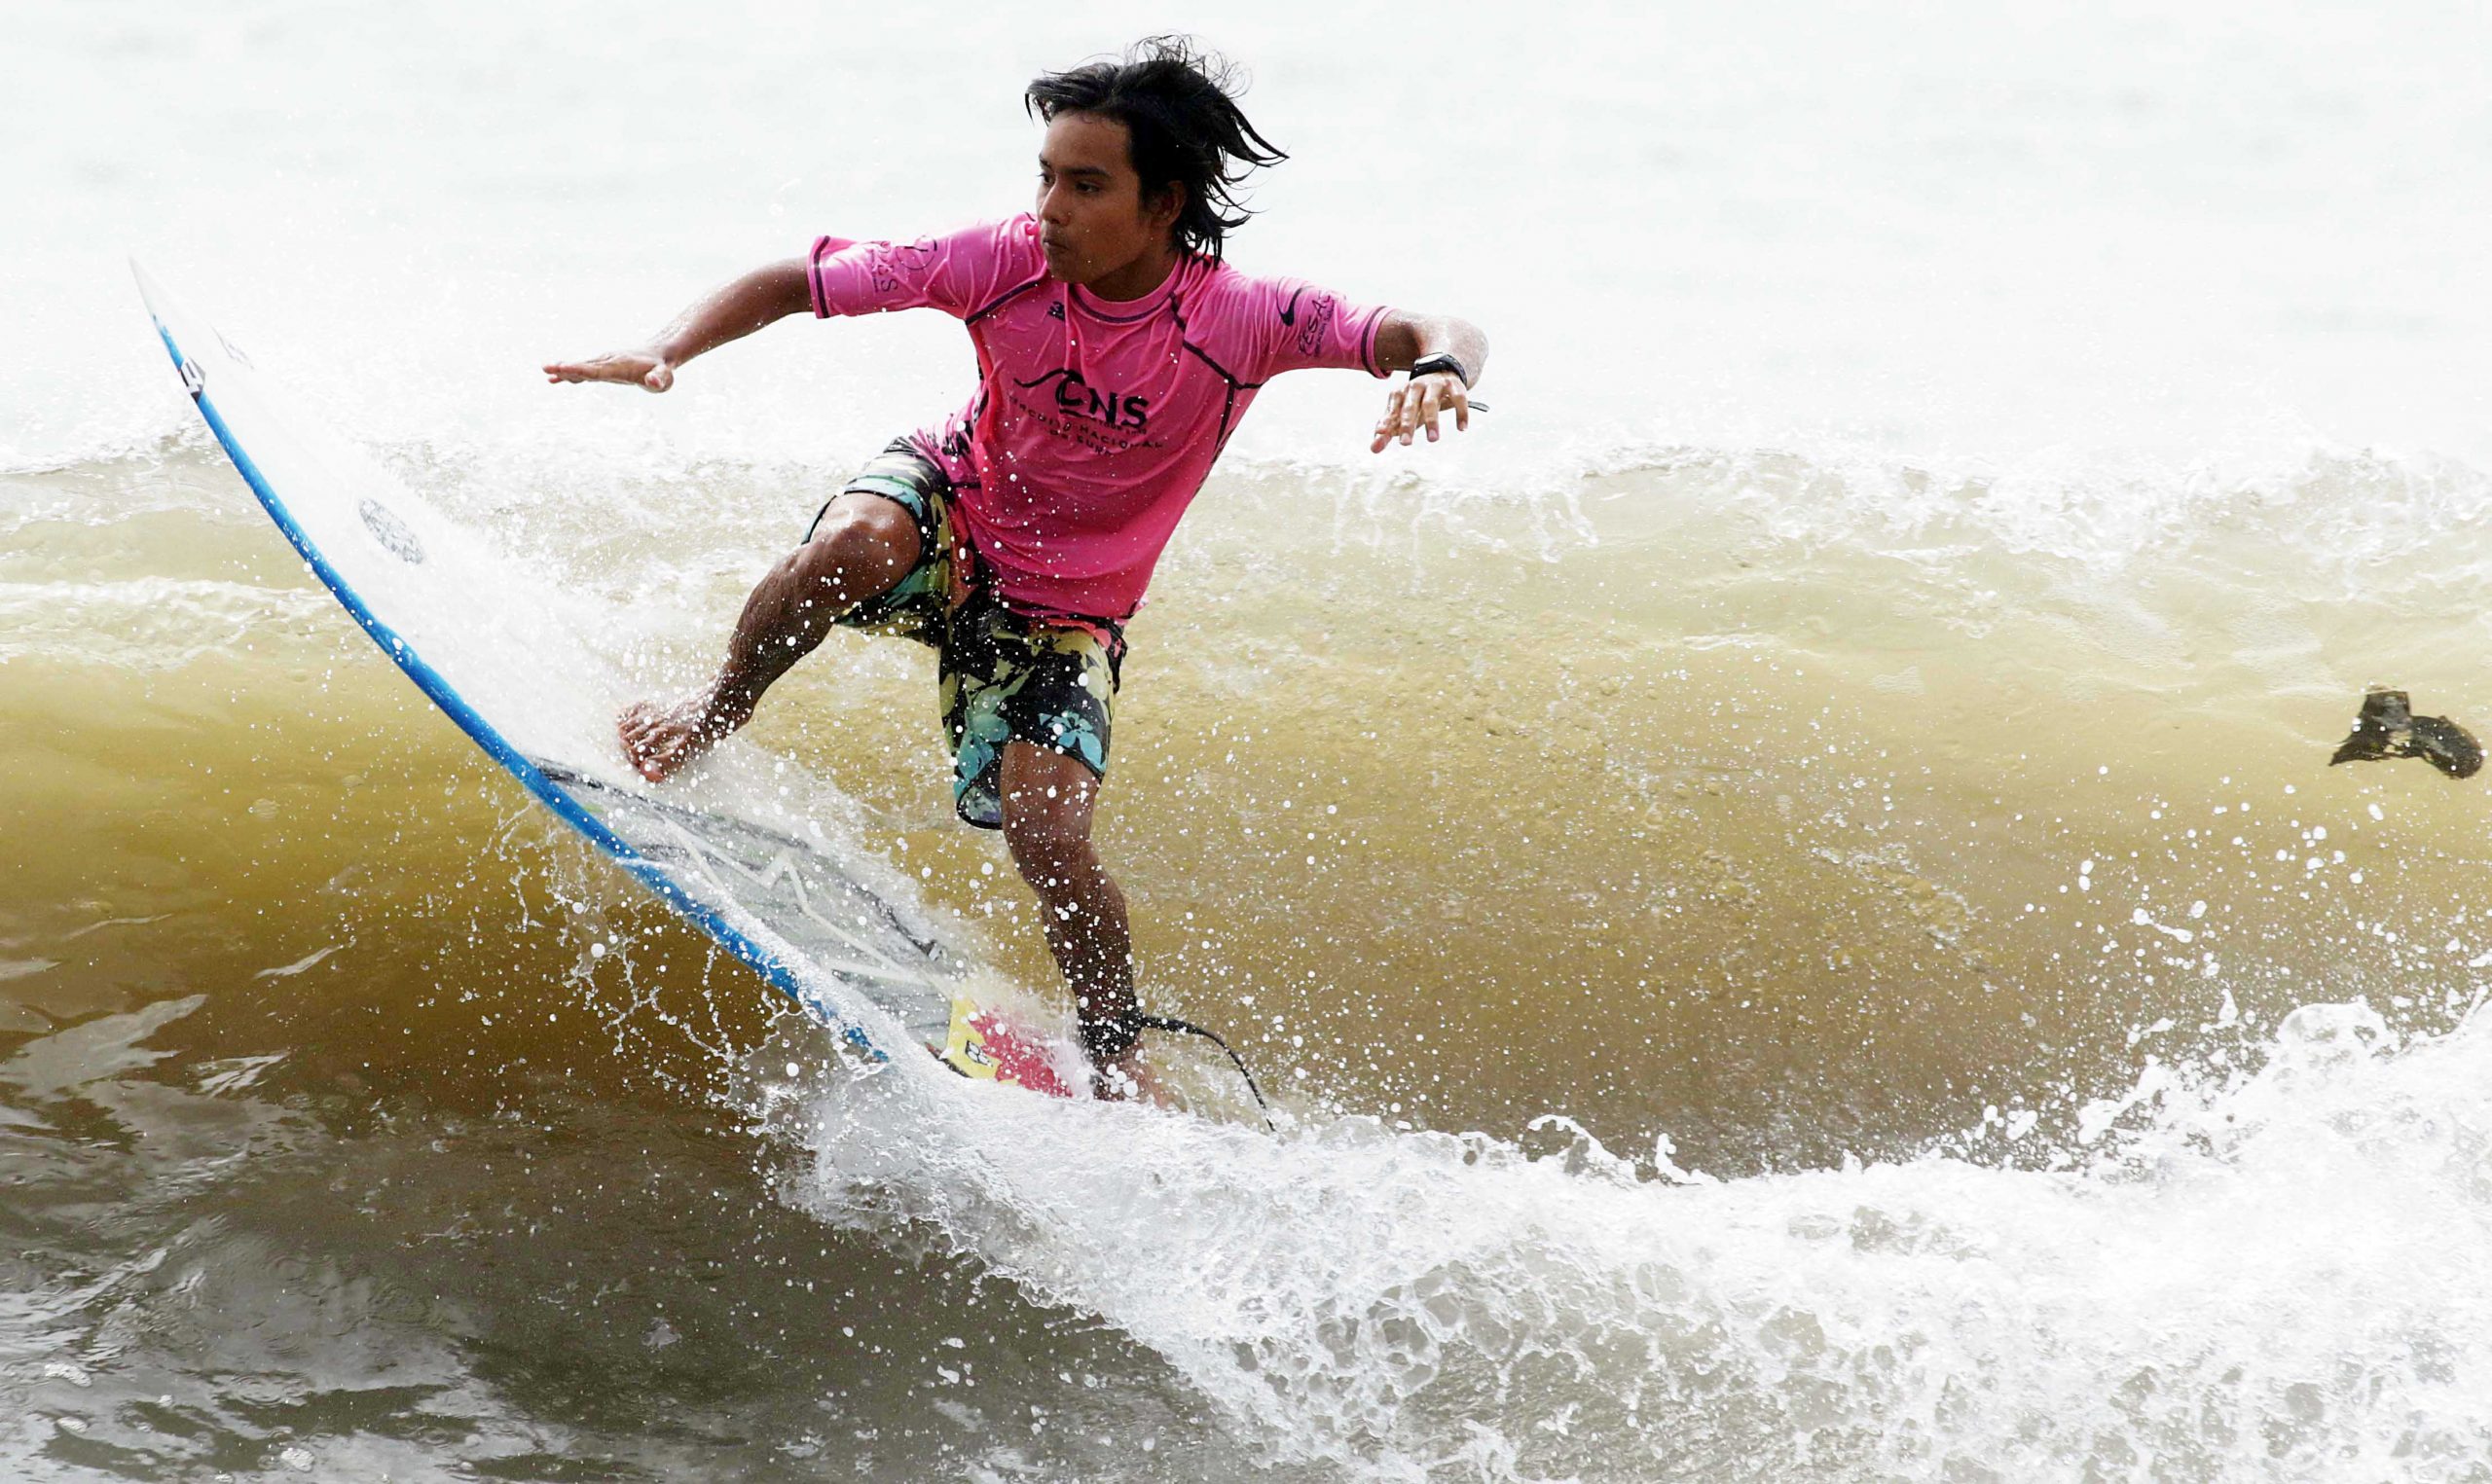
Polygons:
[[[1430,1479],[2465,1479],[2492,1447],[2492,1033],[2313,1003],[2073,1170],[1672,1185],[1366,1118],[1281,1138],[920,1076],[792,1200],[1164,1355],[1266,1462]],[[1685,1173],[1672,1170],[1677,1178]]]

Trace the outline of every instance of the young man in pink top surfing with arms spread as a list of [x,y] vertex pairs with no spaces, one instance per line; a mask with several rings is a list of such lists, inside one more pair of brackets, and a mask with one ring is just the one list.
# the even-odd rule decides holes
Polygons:
[[718,675],[623,712],[623,749],[665,779],[745,725],[830,625],[934,645],[959,817],[1002,829],[1039,896],[1101,1093],[1136,1086],[1124,896],[1091,849],[1124,620],[1256,388],[1301,366],[1410,371],[1371,451],[1470,426],[1488,339],[1460,319],[1361,309],[1221,261],[1231,187],[1286,159],[1181,37],[1029,85],[1047,124],[1027,217],[912,244],[822,237],[735,279],[650,346],[546,366],[648,391],[760,326],[942,309],[979,386],[885,448],[745,600]]

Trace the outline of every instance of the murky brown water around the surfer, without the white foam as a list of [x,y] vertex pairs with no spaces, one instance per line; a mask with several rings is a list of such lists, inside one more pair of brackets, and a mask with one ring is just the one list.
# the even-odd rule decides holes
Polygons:
[[[2435,1033],[2492,984],[2482,782],[2325,767],[2365,682],[2492,717],[2450,603],[2470,535],[2390,585],[2313,513],[2360,471],[2083,555],[1961,486],[1864,538],[1839,483],[1216,481],[1134,622],[1101,812],[1146,996],[1308,1128],[1543,1150],[1560,1113],[1647,1180],[1667,1135],[1739,1188],[1929,1148],[2071,1168],[2141,1068],[2255,1066],[2313,1001]],[[616,627],[653,677],[800,520],[758,476],[708,495],[698,540],[531,533],[591,600],[663,595]],[[12,1472],[1331,1477],[1433,1447],[1381,1414],[1283,1437],[905,1180],[825,1215],[775,1108],[837,1098],[827,1051],[543,819],[222,461],[7,476],[0,505]],[[997,842],[949,824],[925,655],[840,635],[750,742],[1049,984]],[[1535,1322],[1570,1332],[1498,1315]],[[1321,1389],[1303,1360],[1283,1402]],[[1508,1407],[1510,1472],[1724,1457],[1535,1432],[1617,1399],[1592,1362],[1458,1369],[1386,1387],[1413,1437]],[[1847,1474],[1842,1447],[1772,1457]]]

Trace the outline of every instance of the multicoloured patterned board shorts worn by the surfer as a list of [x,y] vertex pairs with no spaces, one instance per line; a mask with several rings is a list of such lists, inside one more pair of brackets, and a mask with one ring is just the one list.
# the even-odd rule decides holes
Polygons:
[[[952,481],[895,438],[842,495],[882,495],[917,523],[917,565],[887,593],[850,608],[842,627],[934,647],[942,730],[952,742],[952,807],[979,829],[1004,827],[1004,742],[1079,759],[1106,777],[1106,744],[1124,672],[1124,627],[1104,618],[1007,608],[952,523]],[[815,538],[830,503],[805,528]]]

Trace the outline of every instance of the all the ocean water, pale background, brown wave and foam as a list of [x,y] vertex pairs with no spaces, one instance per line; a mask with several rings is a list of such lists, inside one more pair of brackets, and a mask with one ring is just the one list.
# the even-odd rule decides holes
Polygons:
[[[1306,373],[1134,622],[1101,849],[1281,1133],[860,1076],[302,573],[125,256],[653,690],[939,316],[548,388],[1017,209],[1191,27]],[[2480,7],[20,7],[0,1472],[2492,1479]],[[491,600],[491,595],[481,595]],[[932,675],[738,742],[1047,991]]]

